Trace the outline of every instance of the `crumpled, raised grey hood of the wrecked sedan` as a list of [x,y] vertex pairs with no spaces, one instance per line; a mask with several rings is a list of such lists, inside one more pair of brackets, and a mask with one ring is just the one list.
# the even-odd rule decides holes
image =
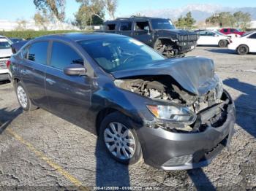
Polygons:
[[185,90],[195,95],[205,95],[209,90],[217,87],[214,78],[214,62],[208,58],[187,57],[172,58],[137,66],[132,69],[114,71],[111,74],[116,79],[147,76],[169,75]]

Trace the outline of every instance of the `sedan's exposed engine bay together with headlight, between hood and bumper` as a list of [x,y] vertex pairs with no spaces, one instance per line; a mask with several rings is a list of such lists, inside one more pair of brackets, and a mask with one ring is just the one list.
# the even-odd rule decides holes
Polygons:
[[227,117],[230,98],[223,92],[222,81],[216,74],[214,80],[216,86],[204,95],[190,93],[165,75],[116,79],[115,85],[154,101],[146,104],[155,119],[145,122],[148,127],[195,133],[203,132],[208,126],[217,128]]

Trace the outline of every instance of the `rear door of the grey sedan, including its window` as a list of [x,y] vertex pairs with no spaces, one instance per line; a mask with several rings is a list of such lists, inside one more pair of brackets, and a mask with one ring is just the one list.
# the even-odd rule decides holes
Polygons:
[[23,50],[20,76],[35,104],[48,106],[45,96],[45,69],[48,64],[48,41],[34,42]]

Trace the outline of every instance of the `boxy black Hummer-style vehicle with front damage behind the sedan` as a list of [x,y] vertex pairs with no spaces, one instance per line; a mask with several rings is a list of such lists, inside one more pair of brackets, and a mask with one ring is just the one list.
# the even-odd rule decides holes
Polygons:
[[197,44],[198,34],[178,30],[169,19],[155,17],[117,18],[105,22],[106,33],[122,34],[148,44],[167,58],[184,55]]

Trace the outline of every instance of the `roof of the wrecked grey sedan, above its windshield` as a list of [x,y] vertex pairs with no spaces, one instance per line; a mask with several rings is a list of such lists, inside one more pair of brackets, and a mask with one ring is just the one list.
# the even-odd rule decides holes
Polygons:
[[127,37],[118,34],[108,34],[108,33],[99,33],[99,32],[91,32],[91,33],[67,33],[67,34],[51,34],[47,36],[40,36],[34,40],[38,39],[66,39],[72,40],[75,42],[83,41],[83,40],[92,40],[92,39],[113,39],[118,37]]

